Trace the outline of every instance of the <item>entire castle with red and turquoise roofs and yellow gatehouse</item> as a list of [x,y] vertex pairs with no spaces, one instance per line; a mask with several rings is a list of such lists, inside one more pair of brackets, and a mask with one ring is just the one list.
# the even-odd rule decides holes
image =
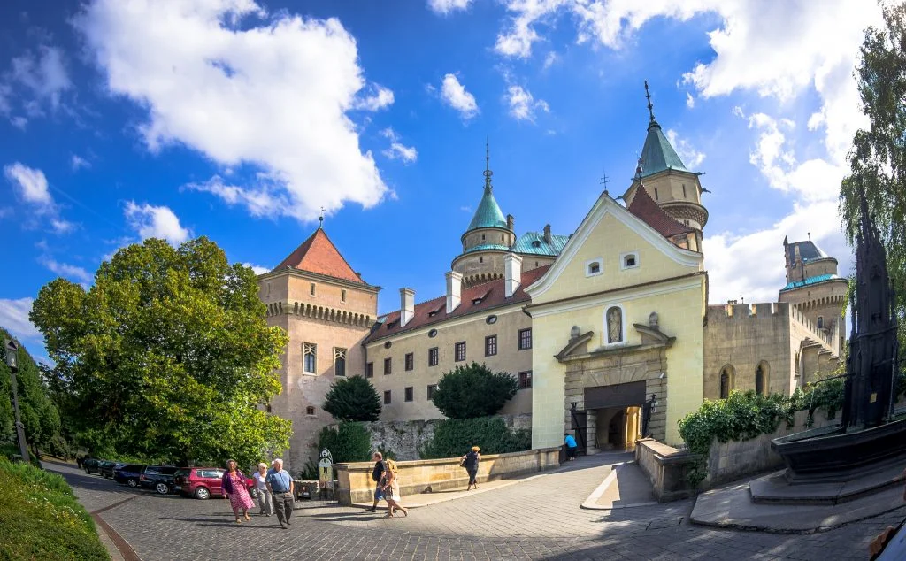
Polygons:
[[[646,84],[647,89],[647,84]],[[589,452],[645,435],[679,443],[677,421],[733,390],[788,395],[832,372],[843,348],[847,281],[810,239],[784,240],[787,284],[777,302],[708,305],[699,173],[654,118],[624,194],[603,191],[576,230],[516,236],[484,192],[446,272],[447,290],[378,315],[365,282],[319,227],[258,277],[267,321],[289,334],[271,411],[293,421],[286,458],[301,469],[338,376],[364,375],[382,420],[442,418],[431,402],[443,372],[486,363],[519,384],[502,413],[531,414],[534,448],[573,431]],[[487,156],[486,156],[487,157]],[[618,199],[622,199],[622,203]]]

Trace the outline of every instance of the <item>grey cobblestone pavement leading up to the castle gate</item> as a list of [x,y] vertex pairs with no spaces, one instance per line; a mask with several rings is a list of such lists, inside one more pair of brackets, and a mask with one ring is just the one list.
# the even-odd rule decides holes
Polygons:
[[159,496],[48,463],[82,504],[101,513],[146,560],[273,559],[867,559],[867,545],[906,508],[813,535],[741,532],[689,524],[692,502],[583,510],[609,461],[579,459],[517,485],[414,508],[386,519],[360,508],[300,502],[293,526],[253,517],[236,524],[226,500]]

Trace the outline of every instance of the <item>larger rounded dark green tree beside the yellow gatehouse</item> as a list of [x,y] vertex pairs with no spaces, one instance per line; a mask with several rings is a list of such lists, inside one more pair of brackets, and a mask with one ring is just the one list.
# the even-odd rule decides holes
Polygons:
[[474,419],[500,411],[518,389],[519,382],[510,373],[471,363],[445,372],[432,401],[449,419]]

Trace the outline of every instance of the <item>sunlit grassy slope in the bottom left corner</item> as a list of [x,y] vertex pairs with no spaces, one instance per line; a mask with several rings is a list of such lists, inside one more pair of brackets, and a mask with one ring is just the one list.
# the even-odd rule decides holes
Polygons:
[[109,561],[94,521],[55,473],[0,458],[0,560]]

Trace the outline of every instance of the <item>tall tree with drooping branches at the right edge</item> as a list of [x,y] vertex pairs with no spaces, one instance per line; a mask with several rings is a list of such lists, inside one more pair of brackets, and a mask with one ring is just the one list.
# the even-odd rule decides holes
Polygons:
[[882,5],[884,24],[869,27],[856,71],[867,130],[853,138],[851,174],[843,179],[840,208],[847,237],[860,226],[860,198],[881,230],[892,284],[898,287],[901,341],[906,341],[906,5]]

